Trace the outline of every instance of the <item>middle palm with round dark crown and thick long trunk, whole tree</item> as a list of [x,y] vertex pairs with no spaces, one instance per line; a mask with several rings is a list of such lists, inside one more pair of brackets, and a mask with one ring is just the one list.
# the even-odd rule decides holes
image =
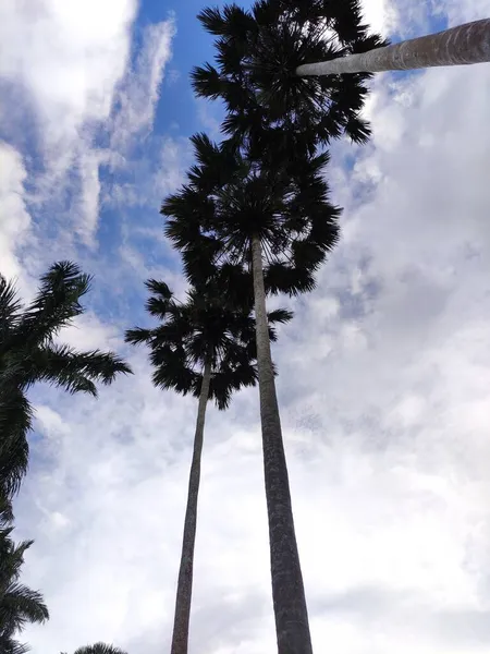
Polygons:
[[271,172],[226,144],[193,137],[197,165],[162,205],[166,233],[196,280],[218,267],[222,293],[230,269],[253,275],[260,417],[269,518],[272,595],[280,654],[309,654],[311,642],[268,335],[266,291],[296,294],[338,240],[339,209],[328,199],[321,154]]

